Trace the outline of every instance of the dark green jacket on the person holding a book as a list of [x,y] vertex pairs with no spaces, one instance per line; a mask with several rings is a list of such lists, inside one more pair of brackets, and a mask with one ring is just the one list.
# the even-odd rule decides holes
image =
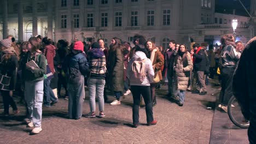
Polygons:
[[[44,80],[44,74],[46,73],[46,61],[43,53],[36,52],[34,57],[30,57],[31,53],[27,52],[24,58],[24,65],[22,68],[22,79],[24,81],[40,81]],[[34,68],[34,70],[26,69],[26,63],[34,60],[39,68]]]

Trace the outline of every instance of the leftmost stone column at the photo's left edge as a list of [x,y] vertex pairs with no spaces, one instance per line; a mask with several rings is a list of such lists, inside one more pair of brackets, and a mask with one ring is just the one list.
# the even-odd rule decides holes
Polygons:
[[7,0],[3,1],[3,39],[6,39],[8,35],[8,8]]

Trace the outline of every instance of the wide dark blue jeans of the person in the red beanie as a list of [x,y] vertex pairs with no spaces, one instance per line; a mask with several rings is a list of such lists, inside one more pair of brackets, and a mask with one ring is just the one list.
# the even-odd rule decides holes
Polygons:
[[74,84],[67,83],[68,89],[68,116],[69,118],[79,119],[83,114],[83,102],[85,97],[84,76]]

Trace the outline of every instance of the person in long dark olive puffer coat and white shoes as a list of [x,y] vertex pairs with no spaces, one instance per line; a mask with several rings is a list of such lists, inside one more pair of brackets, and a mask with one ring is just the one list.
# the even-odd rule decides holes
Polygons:
[[113,38],[108,58],[108,87],[114,91],[115,100],[110,105],[120,105],[120,97],[124,91],[124,47],[119,38]]

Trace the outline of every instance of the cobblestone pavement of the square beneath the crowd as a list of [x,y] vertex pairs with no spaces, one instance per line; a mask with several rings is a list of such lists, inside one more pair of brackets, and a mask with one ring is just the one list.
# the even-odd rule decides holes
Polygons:
[[[60,98],[51,108],[43,108],[43,130],[37,135],[29,135],[31,129],[26,128],[23,121],[24,105],[18,104],[19,115],[0,117],[0,143],[209,143],[217,88],[208,86],[207,95],[186,92],[183,107],[165,98],[166,89],[162,86],[156,90],[158,104],[153,113],[158,124],[150,127],[146,125],[143,107],[139,111],[141,125],[130,127],[131,94],[121,101],[121,105],[106,103],[106,117],[79,120],[67,118],[68,101]],[[109,101],[113,99],[109,96]],[[207,110],[207,106],[212,106],[212,110]],[[83,112],[89,112],[88,92]]]

